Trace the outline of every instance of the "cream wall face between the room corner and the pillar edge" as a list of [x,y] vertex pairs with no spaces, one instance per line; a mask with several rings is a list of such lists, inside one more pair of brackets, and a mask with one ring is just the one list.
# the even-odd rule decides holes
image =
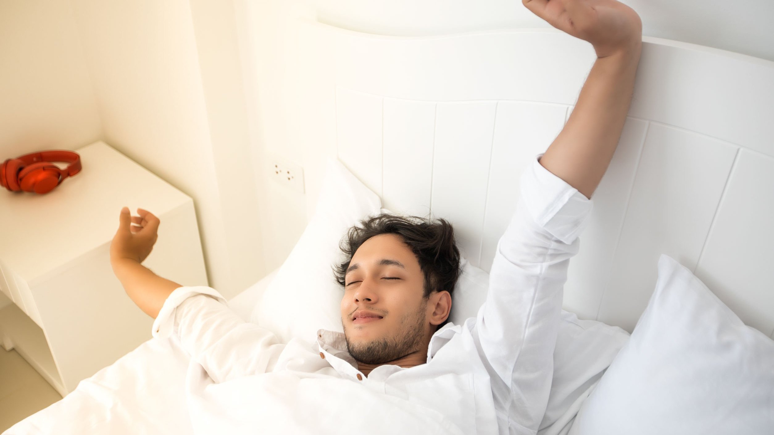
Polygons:
[[72,2],[104,141],[194,199],[209,285],[227,294],[227,237],[190,6]]

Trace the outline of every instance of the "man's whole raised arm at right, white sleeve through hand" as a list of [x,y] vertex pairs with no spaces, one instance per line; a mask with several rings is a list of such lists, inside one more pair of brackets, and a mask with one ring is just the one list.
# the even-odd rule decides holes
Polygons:
[[554,27],[594,44],[598,55],[567,125],[522,174],[472,331],[495,402],[507,409],[500,418],[512,433],[534,434],[543,429],[567,269],[591,215],[591,194],[621,135],[642,36],[639,16],[615,0],[523,2]]

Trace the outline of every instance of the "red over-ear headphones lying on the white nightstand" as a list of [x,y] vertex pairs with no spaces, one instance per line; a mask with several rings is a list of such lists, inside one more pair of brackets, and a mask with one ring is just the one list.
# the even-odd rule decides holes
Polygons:
[[[50,162],[70,163],[67,168]],[[77,152],[54,149],[25,154],[7,159],[0,165],[0,186],[12,192],[35,192],[46,194],[59,186],[68,176],[80,172],[80,156]]]

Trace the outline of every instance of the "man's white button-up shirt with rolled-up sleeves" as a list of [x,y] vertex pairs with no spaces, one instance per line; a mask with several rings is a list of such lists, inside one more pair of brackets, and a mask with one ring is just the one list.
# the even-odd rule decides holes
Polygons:
[[[310,433],[534,434],[551,386],[567,267],[592,208],[590,199],[539,163],[541,156],[522,174],[486,302],[477,317],[433,334],[426,364],[381,365],[366,377],[348,354],[344,334],[320,330],[315,342],[279,343],[206,286],[175,289],[153,336],[178,334],[204,378],[211,378],[207,382],[252,377],[250,391],[261,405],[253,404],[251,415],[265,413],[256,421],[272,433],[302,433],[309,424],[303,420],[315,420],[320,424]],[[206,387],[199,385],[200,394]],[[192,418],[198,414],[191,412]]]

